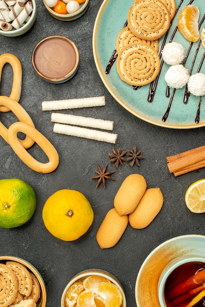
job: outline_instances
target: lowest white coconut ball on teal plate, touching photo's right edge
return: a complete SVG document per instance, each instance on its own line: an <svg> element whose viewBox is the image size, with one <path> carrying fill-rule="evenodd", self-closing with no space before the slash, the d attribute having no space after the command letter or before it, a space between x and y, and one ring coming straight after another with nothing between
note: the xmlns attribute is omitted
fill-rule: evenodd
<svg viewBox="0 0 205 307"><path fill-rule="evenodd" d="M189 77L188 91L195 96L205 95L205 74L197 73Z"/></svg>

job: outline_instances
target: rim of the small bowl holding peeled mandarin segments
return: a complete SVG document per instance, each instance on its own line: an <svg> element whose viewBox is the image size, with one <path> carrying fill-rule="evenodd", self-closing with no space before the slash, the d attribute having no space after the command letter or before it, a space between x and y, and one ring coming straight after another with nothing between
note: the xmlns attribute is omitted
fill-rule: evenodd
<svg viewBox="0 0 205 307"><path fill-rule="evenodd" d="M105 270L102 270L102 269L87 269L87 270L81 271L81 272L77 273L75 276L73 276L63 290L63 293L62 293L62 296L61 296L61 305L60 305L61 307L65 307L64 301L65 301L65 295L66 295L68 288L78 279L83 278L83 277L87 277L87 276L90 276L90 275L98 275L98 276L106 277L110 281L112 281L117 287L119 287L119 289L122 293L122 296L123 296L123 307L126 307L126 304L127 304L126 296L125 296L125 292L124 292L124 289L123 289L121 282L114 275L112 275L111 273L109 273Z"/></svg>

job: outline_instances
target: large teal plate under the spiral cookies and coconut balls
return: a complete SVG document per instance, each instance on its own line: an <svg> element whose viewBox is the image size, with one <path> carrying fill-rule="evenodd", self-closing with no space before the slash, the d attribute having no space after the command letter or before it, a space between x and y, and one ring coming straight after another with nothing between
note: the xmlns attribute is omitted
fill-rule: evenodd
<svg viewBox="0 0 205 307"><path fill-rule="evenodd" d="M196 123L197 109L200 102L200 97L190 95L188 102L184 103L185 86L182 89L177 89L170 107L168 117L165 121L162 120L167 111L173 89L170 88L170 97L166 97L167 84L164 80L164 75L168 68L168 64L163 63L162 70L158 78L157 87L153 102L148 102L150 91L150 84L142 86L138 90L134 90L131 85L124 82L118 75L116 70L116 62L110 69L109 74L105 74L106 66L115 50L115 42L117 35L124 27L127 21L128 9L133 4L133 0L104 0L98 12L94 30L93 30L93 53L98 73L112 97L121 104L128 112L136 117L149 122L151 124L166 127L166 128L198 128L205 126L205 96L202 97L200 106L199 121ZM180 4L180 3L181 4ZM159 52L165 44L170 42L171 36L177 26L179 12L185 5L188 5L190 0L179 1L176 0L177 13L173 19L172 25L168 35L164 34L159 39ZM193 0L192 4L200 9L199 23L203 20L205 15L205 5L202 0ZM179 9L178 9L179 8ZM200 27L200 34L205 27L205 20L203 20ZM179 42L185 48L185 54L188 52L190 42L187 41L177 30L173 41ZM195 74L200 66L205 49L201 41L192 44L189 55L185 62L185 67L191 75ZM192 63L194 56L196 60L193 68ZM201 73L205 73L205 61L201 66Z"/></svg>

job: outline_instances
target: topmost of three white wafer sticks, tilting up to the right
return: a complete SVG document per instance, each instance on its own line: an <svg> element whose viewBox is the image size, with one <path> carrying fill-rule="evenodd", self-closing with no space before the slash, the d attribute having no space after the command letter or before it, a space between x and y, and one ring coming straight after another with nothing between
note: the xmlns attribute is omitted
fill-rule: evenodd
<svg viewBox="0 0 205 307"><path fill-rule="evenodd" d="M63 109L76 109L85 108L90 106L103 106L105 105L105 97L88 97L77 99L64 99L42 102L43 111L63 110Z"/></svg>

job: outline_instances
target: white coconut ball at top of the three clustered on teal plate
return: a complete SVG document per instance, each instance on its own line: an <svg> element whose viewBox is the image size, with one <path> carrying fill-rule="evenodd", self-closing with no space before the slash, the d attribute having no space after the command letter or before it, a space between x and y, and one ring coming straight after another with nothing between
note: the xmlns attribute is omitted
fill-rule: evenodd
<svg viewBox="0 0 205 307"><path fill-rule="evenodd" d="M169 65L180 64L185 57L185 49L176 42L167 43L161 53L164 62Z"/></svg>

